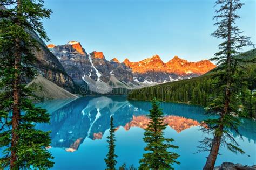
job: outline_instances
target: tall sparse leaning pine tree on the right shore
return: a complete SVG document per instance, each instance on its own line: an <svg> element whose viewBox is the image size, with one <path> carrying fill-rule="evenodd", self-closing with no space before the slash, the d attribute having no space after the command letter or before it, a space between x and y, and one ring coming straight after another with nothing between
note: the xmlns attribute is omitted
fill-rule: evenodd
<svg viewBox="0 0 256 170"><path fill-rule="evenodd" d="M238 132L240 121L234 115L239 115L238 96L242 87L242 69L239 65L243 62L242 59L234 56L240 54L242 47L251 44L250 39L241 36L242 32L235 26L235 20L239 18L235 11L243 4L239 0L217 0L215 5L220 6L220 9L216 10L217 15L214 16L218 29L212 36L224 39L224 42L219 45L219 52L212 58L219 65L215 70L218 82L214 87L220 92L210 103L208 114L217 115L218 118L204 121L206 126L202 130L212 134L213 138L206 137L199 146L203 148L201 151L210 151L204 166L207 170L214 168L220 146L227 146L235 153L244 153L232 136L232 132L240 135Z"/></svg>

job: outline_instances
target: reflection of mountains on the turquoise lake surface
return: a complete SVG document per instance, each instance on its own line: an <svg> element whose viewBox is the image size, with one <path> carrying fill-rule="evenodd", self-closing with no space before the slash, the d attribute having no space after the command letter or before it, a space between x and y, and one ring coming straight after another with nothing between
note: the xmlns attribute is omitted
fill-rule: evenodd
<svg viewBox="0 0 256 170"><path fill-rule="evenodd" d="M128 101L125 96L81 97L76 100L52 100L42 103L42 108L51 113L50 124L40 124L39 129L50 130L51 147L65 148L68 152L78 150L84 139L102 139L110 128L110 117L114 118L116 130L123 126L125 130L132 127L145 129L149 123L146 114L151 109L150 102ZM206 118L204 109L198 106L161 102L165 123L177 133L199 126ZM246 119L244 124L246 125ZM243 136L250 134L241 126ZM255 134L255 133L254 133ZM247 137L250 139L250 137ZM253 138L255 141L255 137Z"/></svg>

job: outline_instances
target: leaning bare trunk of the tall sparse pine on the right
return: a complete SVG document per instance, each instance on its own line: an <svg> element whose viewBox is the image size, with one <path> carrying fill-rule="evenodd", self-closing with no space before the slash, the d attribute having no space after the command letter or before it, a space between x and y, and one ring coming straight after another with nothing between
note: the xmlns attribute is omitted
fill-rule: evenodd
<svg viewBox="0 0 256 170"><path fill-rule="evenodd" d="M214 134L213 138L213 143L211 146L210 154L207 157L206 164L204 166L204 170L212 170L214 168L219 148L220 148L220 143L221 143L221 138L223 136L223 117L225 114L228 114L228 108L230 107L230 86L231 86L231 20L232 20L232 1L230 0L230 7L229 7L229 15L228 15L228 35L227 35L227 77L226 77L226 89L225 89L225 102L224 102L224 110L223 114L220 116L220 125L218 127L218 132Z"/></svg>

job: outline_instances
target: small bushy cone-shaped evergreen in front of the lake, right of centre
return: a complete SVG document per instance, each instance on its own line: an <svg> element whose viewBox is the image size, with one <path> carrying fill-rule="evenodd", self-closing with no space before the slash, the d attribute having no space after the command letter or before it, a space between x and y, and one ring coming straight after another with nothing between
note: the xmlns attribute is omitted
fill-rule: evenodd
<svg viewBox="0 0 256 170"><path fill-rule="evenodd" d="M174 141L173 139L164 138L166 124L164 124L163 112L156 100L152 101L152 109L148 116L150 123L145 129L143 138L147 143L144 150L148 152L144 153L143 158L140 159L139 169L173 169L174 163L179 164L176 160L179 155L168 150L178 148L178 146L170 144Z"/></svg>

